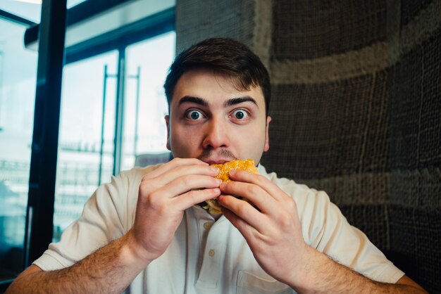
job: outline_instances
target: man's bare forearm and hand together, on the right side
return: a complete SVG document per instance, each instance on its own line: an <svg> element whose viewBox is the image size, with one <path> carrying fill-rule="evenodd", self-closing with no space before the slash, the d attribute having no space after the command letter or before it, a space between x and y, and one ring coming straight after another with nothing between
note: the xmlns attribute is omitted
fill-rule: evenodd
<svg viewBox="0 0 441 294"><path fill-rule="evenodd" d="M304 242L293 198L258 174L231 171L230 179L221 184L218 198L223 214L244 236L262 269L298 293L426 293L407 276L396 284L380 283L330 260Z"/></svg>

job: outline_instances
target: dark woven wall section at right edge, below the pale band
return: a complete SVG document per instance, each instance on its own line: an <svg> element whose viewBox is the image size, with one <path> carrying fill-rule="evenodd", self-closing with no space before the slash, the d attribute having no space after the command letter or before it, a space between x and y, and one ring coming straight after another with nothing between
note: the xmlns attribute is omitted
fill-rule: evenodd
<svg viewBox="0 0 441 294"><path fill-rule="evenodd" d="M441 30L390 70L391 169L441 166Z"/></svg>

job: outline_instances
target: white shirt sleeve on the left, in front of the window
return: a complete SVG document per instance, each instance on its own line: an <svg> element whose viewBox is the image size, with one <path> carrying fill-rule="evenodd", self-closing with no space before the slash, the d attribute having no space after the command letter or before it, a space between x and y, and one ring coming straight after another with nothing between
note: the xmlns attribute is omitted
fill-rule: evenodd
<svg viewBox="0 0 441 294"><path fill-rule="evenodd" d="M87 200L80 219L70 224L58 243L33 262L44 271L70 267L128 231L130 196L128 172L112 177ZM138 185L139 186L139 185Z"/></svg>

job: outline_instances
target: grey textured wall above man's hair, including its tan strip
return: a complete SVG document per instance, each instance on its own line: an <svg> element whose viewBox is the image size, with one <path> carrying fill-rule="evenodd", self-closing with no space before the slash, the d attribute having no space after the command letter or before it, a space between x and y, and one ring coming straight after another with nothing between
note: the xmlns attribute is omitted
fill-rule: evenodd
<svg viewBox="0 0 441 294"><path fill-rule="evenodd" d="M271 46L271 1L176 1L176 51L208 37L242 41L268 64Z"/></svg>

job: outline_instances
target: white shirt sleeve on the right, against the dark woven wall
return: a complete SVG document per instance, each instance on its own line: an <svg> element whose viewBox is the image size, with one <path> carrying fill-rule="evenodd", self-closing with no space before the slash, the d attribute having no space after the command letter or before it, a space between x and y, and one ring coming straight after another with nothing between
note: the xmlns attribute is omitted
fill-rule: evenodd
<svg viewBox="0 0 441 294"><path fill-rule="evenodd" d="M312 248L374 281L396 283L404 276L362 231L347 222L325 192L294 181L280 183L297 202L302 234Z"/></svg>

